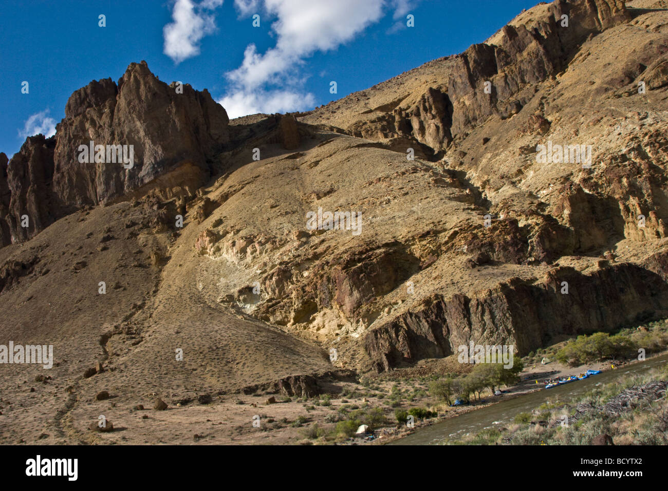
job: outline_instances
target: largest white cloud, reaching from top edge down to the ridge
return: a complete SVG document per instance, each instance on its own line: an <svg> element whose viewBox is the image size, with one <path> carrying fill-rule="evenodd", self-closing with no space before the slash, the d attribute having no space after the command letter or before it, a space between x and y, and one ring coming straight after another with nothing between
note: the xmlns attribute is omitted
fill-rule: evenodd
<svg viewBox="0 0 668 491"><path fill-rule="evenodd" d="M275 18L276 45L265 53L248 45L240 67L226 73L228 94L218 100L230 118L257 112L313 108L315 97L303 90L299 66L316 51L351 41L383 16L386 0L234 0L242 15Z"/></svg>

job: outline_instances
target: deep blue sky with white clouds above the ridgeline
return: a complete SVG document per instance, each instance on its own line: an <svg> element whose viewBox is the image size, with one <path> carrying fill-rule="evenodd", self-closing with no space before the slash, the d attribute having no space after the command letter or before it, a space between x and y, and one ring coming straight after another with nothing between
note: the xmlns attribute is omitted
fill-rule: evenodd
<svg viewBox="0 0 668 491"><path fill-rule="evenodd" d="M0 152L53 132L71 93L145 59L230 117L309 110L484 41L537 0L32 0L0 3ZM99 15L106 16L100 27ZM260 27L253 27L253 15ZM414 16L414 27L406 16ZM329 93L330 81L337 94ZM22 94L27 81L28 94Z"/></svg>

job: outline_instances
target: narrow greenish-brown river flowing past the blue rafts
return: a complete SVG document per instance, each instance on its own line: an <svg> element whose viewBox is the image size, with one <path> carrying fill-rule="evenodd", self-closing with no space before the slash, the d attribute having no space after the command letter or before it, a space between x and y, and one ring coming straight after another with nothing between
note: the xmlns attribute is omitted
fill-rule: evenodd
<svg viewBox="0 0 668 491"><path fill-rule="evenodd" d="M390 442L388 445L431 445L442 442L445 438L456 438L464 436L467 433L477 433L484 428L494 426L508 426L518 413L531 412L536 407L548 399L558 399L561 402L568 402L572 397L591 391L597 385L613 382L617 379L624 379L637 373L643 373L653 367L665 365L668 362L668 355L661 355L647 359L645 361L634 363L619 369L611 369L592 375L591 377L578 380L564 385L559 385L552 389L542 389L525 395L520 395L514 399L498 402L496 404L482 407L440 423L418 428L415 432L400 440ZM587 367L583 366L582 371Z"/></svg>

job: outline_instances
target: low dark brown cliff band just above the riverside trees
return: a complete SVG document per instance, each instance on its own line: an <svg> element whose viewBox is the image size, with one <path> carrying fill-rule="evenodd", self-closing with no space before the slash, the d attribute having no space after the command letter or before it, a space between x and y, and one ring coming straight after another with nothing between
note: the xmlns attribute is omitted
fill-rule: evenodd
<svg viewBox="0 0 668 491"><path fill-rule="evenodd" d="M511 278L471 296L435 295L369 332L365 350L377 371L457 354L472 340L524 355L559 336L610 331L665 311L660 275L628 263L600 266L585 274L559 267L540 281Z"/></svg>

